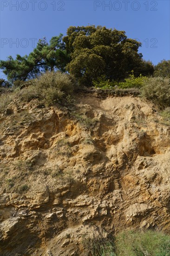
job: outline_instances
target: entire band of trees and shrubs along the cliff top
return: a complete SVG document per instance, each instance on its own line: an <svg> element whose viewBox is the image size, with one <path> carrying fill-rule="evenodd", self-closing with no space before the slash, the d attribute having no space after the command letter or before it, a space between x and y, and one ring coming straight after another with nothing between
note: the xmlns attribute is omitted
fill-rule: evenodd
<svg viewBox="0 0 170 256"><path fill-rule="evenodd" d="M138 53L140 46L124 31L93 25L69 27L65 37L59 34L49 43L43 38L28 56L17 54L16 59L0 61L8 79L0 79L0 109L15 96L52 106L86 86L136 88L163 110L170 106L170 61L154 67Z"/></svg>

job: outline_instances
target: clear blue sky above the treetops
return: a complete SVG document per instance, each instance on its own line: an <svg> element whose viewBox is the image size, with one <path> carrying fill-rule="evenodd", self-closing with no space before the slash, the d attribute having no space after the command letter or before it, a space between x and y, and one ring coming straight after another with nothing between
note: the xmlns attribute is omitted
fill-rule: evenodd
<svg viewBox="0 0 170 256"><path fill-rule="evenodd" d="M40 38L88 24L124 30L155 65L170 59L169 0L0 0L0 59L29 54Z"/></svg>

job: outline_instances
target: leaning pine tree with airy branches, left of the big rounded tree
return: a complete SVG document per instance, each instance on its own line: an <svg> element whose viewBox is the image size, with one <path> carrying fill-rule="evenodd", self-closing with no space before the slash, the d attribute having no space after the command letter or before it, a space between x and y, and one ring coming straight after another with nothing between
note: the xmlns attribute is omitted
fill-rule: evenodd
<svg viewBox="0 0 170 256"><path fill-rule="evenodd" d="M7 61L0 61L0 68L9 81L26 81L47 70L53 71L56 68L63 71L69 60L60 34L52 37L49 44L46 38L40 39L29 55L21 57L17 54L15 60L9 56Z"/></svg>

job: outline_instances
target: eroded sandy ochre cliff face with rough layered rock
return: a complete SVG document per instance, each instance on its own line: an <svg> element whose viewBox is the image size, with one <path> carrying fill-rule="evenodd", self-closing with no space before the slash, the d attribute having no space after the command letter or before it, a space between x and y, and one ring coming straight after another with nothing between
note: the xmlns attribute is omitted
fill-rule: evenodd
<svg viewBox="0 0 170 256"><path fill-rule="evenodd" d="M82 239L170 230L170 128L139 97L15 100L0 119L0 255L84 255Z"/></svg>

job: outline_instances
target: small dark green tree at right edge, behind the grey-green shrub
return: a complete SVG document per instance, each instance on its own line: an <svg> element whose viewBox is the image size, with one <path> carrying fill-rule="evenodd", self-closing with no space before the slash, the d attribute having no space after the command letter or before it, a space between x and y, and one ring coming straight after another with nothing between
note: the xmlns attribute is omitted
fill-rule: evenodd
<svg viewBox="0 0 170 256"><path fill-rule="evenodd" d="M170 78L170 60L162 60L155 66L154 76L162 76Z"/></svg>

